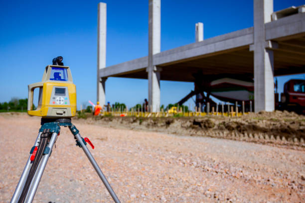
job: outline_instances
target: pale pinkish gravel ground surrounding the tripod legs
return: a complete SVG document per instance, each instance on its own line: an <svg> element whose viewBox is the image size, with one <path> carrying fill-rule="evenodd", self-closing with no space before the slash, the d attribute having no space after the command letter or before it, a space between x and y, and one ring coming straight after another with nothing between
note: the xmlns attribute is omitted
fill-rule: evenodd
<svg viewBox="0 0 305 203"><path fill-rule="evenodd" d="M122 203L305 202L305 151L73 121ZM39 117L0 114L0 202L10 201ZM62 127L34 202L112 202Z"/></svg>

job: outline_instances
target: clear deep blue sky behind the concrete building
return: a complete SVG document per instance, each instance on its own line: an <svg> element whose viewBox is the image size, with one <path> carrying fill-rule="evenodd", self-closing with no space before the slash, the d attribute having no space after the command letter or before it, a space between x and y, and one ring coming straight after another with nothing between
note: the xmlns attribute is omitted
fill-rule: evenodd
<svg viewBox="0 0 305 203"><path fill-rule="evenodd" d="M41 81L44 67L56 56L63 56L72 70L78 106L96 101L98 2L0 1L0 102L27 98L27 85ZM147 56L148 0L103 2L107 3L106 65ZM274 10L304 3L274 0ZM253 1L161 0L161 51L193 43L196 22L204 23L205 39L251 27ZM290 78L279 78L280 91ZM161 81L160 85L164 105L178 102L193 89L192 83ZM147 80L109 78L106 82L111 103L132 106L147 97Z"/></svg>

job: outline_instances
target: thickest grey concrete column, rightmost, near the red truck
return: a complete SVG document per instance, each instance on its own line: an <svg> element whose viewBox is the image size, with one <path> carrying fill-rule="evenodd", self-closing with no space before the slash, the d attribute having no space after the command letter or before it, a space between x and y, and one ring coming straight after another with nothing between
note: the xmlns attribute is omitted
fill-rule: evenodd
<svg viewBox="0 0 305 203"><path fill-rule="evenodd" d="M254 107L255 112L273 111L273 51L267 49L265 23L271 21L273 0L254 0ZM267 48L266 48L267 47Z"/></svg>

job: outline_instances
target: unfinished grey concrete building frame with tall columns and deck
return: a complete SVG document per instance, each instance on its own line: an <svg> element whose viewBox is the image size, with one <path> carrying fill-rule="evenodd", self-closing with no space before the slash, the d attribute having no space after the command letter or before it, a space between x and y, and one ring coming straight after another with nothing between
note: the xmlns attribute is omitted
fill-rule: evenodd
<svg viewBox="0 0 305 203"><path fill-rule="evenodd" d="M160 0L149 0L149 55L106 67L106 3L98 4L97 100L105 103L108 77L148 79L149 105L160 106L160 80L195 82L205 76L254 78L255 111L275 109L274 77L305 73L305 5L273 10L273 0L253 0L253 27L160 52Z"/></svg>

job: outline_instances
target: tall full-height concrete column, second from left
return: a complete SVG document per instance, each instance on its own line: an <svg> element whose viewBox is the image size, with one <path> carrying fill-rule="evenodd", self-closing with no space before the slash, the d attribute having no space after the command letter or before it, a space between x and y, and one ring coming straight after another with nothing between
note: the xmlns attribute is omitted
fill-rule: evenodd
<svg viewBox="0 0 305 203"><path fill-rule="evenodd" d="M160 106L160 70L153 65L153 55L160 52L160 0L149 0L149 105L152 111L159 111Z"/></svg>

